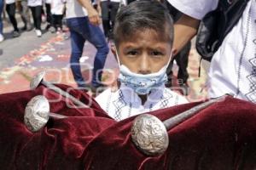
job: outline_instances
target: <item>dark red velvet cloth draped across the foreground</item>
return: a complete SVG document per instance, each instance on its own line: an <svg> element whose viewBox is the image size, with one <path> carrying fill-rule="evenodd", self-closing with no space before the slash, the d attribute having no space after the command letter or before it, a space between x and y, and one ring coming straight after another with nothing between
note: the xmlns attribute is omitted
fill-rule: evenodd
<svg viewBox="0 0 256 170"><path fill-rule="evenodd" d="M59 85L64 90L69 88ZM162 156L144 156L131 142L134 117L115 122L93 100L90 109L50 103L51 112L70 116L51 120L38 133L23 123L27 102L36 95L58 97L40 87L0 95L0 169L255 169L256 105L225 99L168 131L170 144ZM45 92L46 91L46 92ZM89 96L71 92L84 103ZM165 120L198 103L151 114Z"/></svg>

